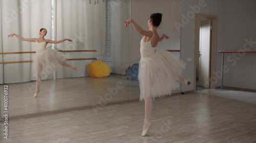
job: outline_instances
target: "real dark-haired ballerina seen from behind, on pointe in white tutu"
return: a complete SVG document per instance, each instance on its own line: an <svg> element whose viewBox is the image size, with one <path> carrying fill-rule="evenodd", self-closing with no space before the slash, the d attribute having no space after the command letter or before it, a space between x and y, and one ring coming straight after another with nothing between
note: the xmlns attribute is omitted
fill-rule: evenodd
<svg viewBox="0 0 256 143"><path fill-rule="evenodd" d="M161 37L157 33L157 27L162 20L161 13L154 13L148 19L149 30L143 30L133 19L124 21L125 27L132 23L135 30L144 37L140 42L141 59L139 63L139 83L140 101L145 100L145 120L142 136L145 136L151 127L150 115L152 109L152 99L162 95L170 95L172 89L176 88L177 81L186 85L190 84L181 73L185 69L185 63L180 61L174 54L155 48L158 42L169 37L163 34Z"/></svg>

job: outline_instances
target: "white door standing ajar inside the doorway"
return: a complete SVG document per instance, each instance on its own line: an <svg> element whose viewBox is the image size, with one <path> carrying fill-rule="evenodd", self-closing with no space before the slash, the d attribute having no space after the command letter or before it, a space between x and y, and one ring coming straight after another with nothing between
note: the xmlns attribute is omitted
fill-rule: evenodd
<svg viewBox="0 0 256 143"><path fill-rule="evenodd" d="M199 85L210 88L211 20L201 21L199 41Z"/></svg>

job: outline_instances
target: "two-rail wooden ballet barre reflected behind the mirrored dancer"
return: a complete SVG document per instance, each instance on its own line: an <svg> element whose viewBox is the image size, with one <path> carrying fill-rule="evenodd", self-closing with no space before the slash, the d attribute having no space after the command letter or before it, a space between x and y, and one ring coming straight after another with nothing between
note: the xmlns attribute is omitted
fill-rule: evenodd
<svg viewBox="0 0 256 143"><path fill-rule="evenodd" d="M98 53L99 50L58 50L58 52L97 52L96 58L82 58L82 59L67 59L67 61L72 60L99 60ZM0 54L17 54L17 53L35 53L35 51L25 51L25 52L0 52ZM32 63L33 61L15 61L15 62L0 62L0 64L13 64L13 63Z"/></svg>

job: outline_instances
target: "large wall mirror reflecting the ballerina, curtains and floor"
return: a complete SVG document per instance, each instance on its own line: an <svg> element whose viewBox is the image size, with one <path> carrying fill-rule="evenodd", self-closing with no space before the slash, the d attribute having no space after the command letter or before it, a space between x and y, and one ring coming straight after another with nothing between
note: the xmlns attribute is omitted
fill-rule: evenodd
<svg viewBox="0 0 256 143"><path fill-rule="evenodd" d="M139 100L139 81L126 75L138 72L138 66L133 65L140 60L142 35L132 25L124 27L123 21L129 18L147 30L150 15L162 13L158 33L170 39L160 42L157 48L180 50L180 30L174 24L180 21L180 0L37 0L28 3L11 0L1 1L0 7L3 21L0 31L3 43L0 49L1 112L4 111L4 86L8 85L9 117L13 118L82 108L94 108L97 113L108 104ZM16 33L24 38L38 38L40 28L47 29L46 39L73 41L48 44L47 48L59 50L68 64L80 70L60 67L45 75L40 92L34 98L36 81L32 63L10 62L32 61L35 53L8 53L35 51L34 43L7 35ZM180 56L179 51L173 53ZM96 61L111 67L109 77L89 76L89 64ZM179 92L177 84L173 93Z"/></svg>

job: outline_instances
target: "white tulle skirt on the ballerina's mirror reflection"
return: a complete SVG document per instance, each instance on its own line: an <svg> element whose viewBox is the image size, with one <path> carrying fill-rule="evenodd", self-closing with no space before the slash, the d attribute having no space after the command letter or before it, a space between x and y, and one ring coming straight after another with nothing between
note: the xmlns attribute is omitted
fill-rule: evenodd
<svg viewBox="0 0 256 143"><path fill-rule="evenodd" d="M61 52L46 48L45 51L36 53L33 59L33 76L41 76L42 79L48 77L57 68L63 65L66 58Z"/></svg>

